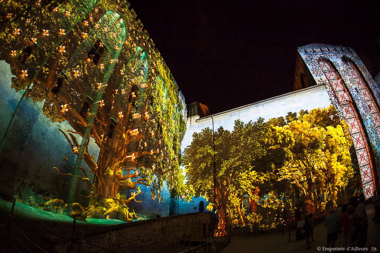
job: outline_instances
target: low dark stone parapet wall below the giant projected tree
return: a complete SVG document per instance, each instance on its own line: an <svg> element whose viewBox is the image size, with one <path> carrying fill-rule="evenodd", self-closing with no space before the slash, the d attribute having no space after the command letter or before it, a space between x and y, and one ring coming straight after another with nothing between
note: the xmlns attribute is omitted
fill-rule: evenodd
<svg viewBox="0 0 380 253"><path fill-rule="evenodd" d="M94 246L102 245L118 252L176 252L180 251L181 240L186 237L201 239L204 232L210 235L211 231L212 213L187 213L116 225L107 233L85 238L87 243L83 248L108 252Z"/></svg>

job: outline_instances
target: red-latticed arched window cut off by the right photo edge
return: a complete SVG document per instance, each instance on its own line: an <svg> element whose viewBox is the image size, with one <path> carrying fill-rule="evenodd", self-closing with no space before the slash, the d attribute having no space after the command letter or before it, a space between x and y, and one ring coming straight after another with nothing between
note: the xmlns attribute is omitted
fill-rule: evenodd
<svg viewBox="0 0 380 253"><path fill-rule="evenodd" d="M368 85L365 83L363 77L359 73L356 66L351 62L350 59L343 57L342 61L346 64L346 68L350 71L351 78L355 85L355 88L361 94L364 101L368 105L369 113L371 114L371 118L376 127L378 135L380 135L380 113L378 110L378 106L376 105L375 100L373 99L373 95L371 91L368 89Z"/></svg>

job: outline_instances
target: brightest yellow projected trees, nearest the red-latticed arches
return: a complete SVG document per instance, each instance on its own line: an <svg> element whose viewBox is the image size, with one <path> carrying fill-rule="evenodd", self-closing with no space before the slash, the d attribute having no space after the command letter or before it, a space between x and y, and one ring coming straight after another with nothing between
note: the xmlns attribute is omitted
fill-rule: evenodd
<svg viewBox="0 0 380 253"><path fill-rule="evenodd" d="M292 159L279 170L280 180L291 180L299 187L311 212L321 193L324 201L329 194L336 206L336 193L343 188L345 176L353 177L347 127L343 131L335 110L329 107L314 109L284 128L293 133L295 144L289 149Z"/></svg>

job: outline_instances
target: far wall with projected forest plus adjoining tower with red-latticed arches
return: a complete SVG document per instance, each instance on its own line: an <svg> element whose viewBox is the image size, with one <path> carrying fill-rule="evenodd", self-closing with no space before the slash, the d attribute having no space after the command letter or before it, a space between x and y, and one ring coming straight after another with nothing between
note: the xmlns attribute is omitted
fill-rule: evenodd
<svg viewBox="0 0 380 253"><path fill-rule="evenodd" d="M373 196L374 81L350 48L315 44L298 53L298 91L213 115L203 104L188 106L183 166L189 191L203 198L180 203L180 211L216 209L222 230L229 222L274 227L295 207L320 213L360 191Z"/></svg>

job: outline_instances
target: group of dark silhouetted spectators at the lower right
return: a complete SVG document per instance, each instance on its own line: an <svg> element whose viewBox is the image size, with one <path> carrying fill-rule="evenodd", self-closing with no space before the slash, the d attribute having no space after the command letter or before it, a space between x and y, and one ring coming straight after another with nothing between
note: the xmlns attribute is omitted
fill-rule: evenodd
<svg viewBox="0 0 380 253"><path fill-rule="evenodd" d="M338 232L343 232L343 246L356 242L357 247L364 247L367 242L368 217L365 206L365 196L359 194L358 199L352 198L350 204L340 204L336 213L334 208L324 220L327 227L327 247L334 247L338 239ZM372 203L375 207L375 217L378 222L380 217L380 198L374 191ZM343 231L342 231L343 230Z"/></svg>

